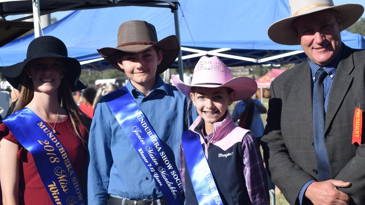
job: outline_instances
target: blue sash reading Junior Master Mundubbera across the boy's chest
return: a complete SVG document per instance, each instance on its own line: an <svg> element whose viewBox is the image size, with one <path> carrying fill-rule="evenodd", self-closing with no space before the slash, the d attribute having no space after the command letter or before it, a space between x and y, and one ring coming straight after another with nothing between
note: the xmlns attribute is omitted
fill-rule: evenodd
<svg viewBox="0 0 365 205"><path fill-rule="evenodd" d="M181 205L180 173L126 86L104 96L116 120L160 187L169 205ZM163 115L163 113L161 113Z"/></svg>

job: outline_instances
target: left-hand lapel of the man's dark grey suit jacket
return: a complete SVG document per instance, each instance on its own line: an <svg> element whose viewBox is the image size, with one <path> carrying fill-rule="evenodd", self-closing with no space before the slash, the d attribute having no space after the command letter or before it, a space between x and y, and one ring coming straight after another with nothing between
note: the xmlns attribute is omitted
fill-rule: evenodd
<svg viewBox="0 0 365 205"><path fill-rule="evenodd" d="M303 71L298 75L298 82L301 83L298 84L295 92L297 105L299 105L297 109L303 115L308 127L313 131L312 75L308 62L304 63L300 70Z"/></svg>

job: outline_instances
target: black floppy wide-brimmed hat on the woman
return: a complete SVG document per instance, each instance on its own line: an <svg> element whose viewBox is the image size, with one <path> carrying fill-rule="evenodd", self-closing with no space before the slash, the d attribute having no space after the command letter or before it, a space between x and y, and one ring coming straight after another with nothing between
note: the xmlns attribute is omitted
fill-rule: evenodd
<svg viewBox="0 0 365 205"><path fill-rule="evenodd" d="M15 89L18 89L24 67L28 62L37 58L60 58L65 67L66 79L69 81L72 92L87 88L80 80L81 65L74 58L67 55L65 44L53 36L40 36L32 40L28 46L27 58L23 62L3 67L0 73Z"/></svg>

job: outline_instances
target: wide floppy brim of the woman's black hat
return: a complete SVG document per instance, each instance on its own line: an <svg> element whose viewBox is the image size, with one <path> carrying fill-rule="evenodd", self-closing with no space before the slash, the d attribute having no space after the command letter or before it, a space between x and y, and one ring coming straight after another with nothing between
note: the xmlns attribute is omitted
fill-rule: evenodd
<svg viewBox="0 0 365 205"><path fill-rule="evenodd" d="M52 57L61 58L62 61L64 62L67 79L70 82L72 92L87 88L80 80L78 80L81 74L80 62L78 62L77 59L71 57L65 57L63 55L58 55L54 53L37 53L32 57L25 59L23 62L1 68L0 73L4 75L5 79L9 82L11 86L13 86L15 89L18 89L21 80L20 74L22 74L24 66L26 66L28 62L38 58L52 58Z"/></svg>

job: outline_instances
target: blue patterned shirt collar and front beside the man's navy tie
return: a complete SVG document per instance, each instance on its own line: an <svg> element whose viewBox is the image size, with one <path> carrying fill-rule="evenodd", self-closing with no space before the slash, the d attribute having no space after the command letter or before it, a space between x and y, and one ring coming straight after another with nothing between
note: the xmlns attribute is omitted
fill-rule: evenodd
<svg viewBox="0 0 365 205"><path fill-rule="evenodd" d="M330 96L330 90L331 90L333 78L335 77L335 74L336 74L337 65L340 62L342 47L341 47L341 50L338 52L336 58L333 59L332 62L330 62L328 65L326 65L324 67L320 67L319 65L311 62L310 59L308 58L308 63L309 63L309 66L311 67L311 71L312 71L312 88L313 88L314 83L315 83L316 72L321 68L324 71L327 72L327 76L323 80L323 86L324 86L324 112L326 112L326 113L327 113L328 96ZM315 99L313 99L313 100L315 100Z"/></svg>

